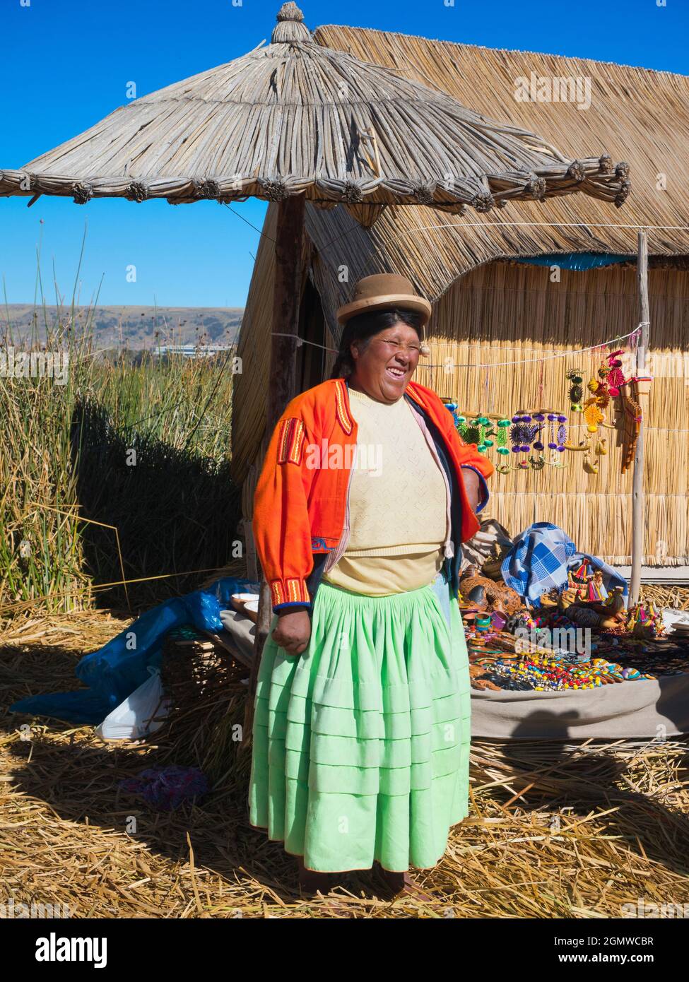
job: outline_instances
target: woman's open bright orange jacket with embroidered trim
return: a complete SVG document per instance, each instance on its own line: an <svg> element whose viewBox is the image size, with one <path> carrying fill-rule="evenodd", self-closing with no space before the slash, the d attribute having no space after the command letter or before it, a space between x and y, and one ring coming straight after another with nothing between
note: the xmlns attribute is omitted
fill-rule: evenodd
<svg viewBox="0 0 689 982"><path fill-rule="evenodd" d="M479 519L467 499L463 466L485 478L493 465L476 444L465 444L452 415L431 389L410 382L404 398L429 430L438 465L450 486L454 562L448 577L457 585L459 545L478 531ZM329 379L303 392L282 413L268 445L254 499L258 560L270 584L273 611L309 606L321 574L345 550L349 538L349 484L357 444L357 423L344 379Z"/></svg>

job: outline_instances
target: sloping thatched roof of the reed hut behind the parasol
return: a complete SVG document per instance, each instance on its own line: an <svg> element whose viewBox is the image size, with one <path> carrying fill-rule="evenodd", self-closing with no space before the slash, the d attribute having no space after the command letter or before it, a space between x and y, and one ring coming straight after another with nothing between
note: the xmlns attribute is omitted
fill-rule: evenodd
<svg viewBox="0 0 689 982"><path fill-rule="evenodd" d="M649 229L652 255L689 254L686 76L356 27L318 27L315 36L321 44L436 85L488 116L542 133L565 153L587 145L604 147L612 159L629 162L634 179L622 212L583 194L524 202L518 212L472 212L464 218L437 215L423 207L394 208L387 209L370 232L363 232L342 209L308 209L309 235L328 267L327 282L318 283L318 288L325 293L333 330L333 304L348 299L358 277L380 270L404 272L435 300L457 277L493 259L584 251L634 255L636 226ZM537 79L589 79L591 106L517 101L517 80L531 80L532 72ZM584 227L569 227L576 223ZM440 225L443 228L429 228ZM342 263L349 268L349 286L330 275ZM331 291L336 296L328 302Z"/></svg>

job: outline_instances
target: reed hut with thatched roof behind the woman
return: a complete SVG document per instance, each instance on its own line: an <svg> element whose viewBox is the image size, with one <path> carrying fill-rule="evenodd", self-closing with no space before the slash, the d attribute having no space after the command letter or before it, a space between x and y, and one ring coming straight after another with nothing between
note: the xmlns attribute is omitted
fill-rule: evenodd
<svg viewBox="0 0 689 982"><path fill-rule="evenodd" d="M540 404L576 419L569 413L565 372L580 369L586 384L603 351L566 353L627 335L638 325L637 236L647 229L647 368L655 382L644 423L643 563L647 573L661 566L687 577L689 78L362 28L319 27L315 36L320 44L445 91L487 116L543 134L564 153L604 147L610 159L629 162L634 189L622 212L611 213L609 204L581 194L465 216L408 205L384 208L369 229L343 208L308 205L300 389L329 375L328 349L336 348L339 335L334 311L349 299L354 282L399 271L433 303L431 358L420 365L419 381L460 409L511 414ZM249 522L270 387L275 218L271 204L242 325L243 372L234 393L233 468L243 484L250 557ZM628 356L623 363L633 370ZM573 442L585 428L579 423L570 429ZM490 516L513 534L536 520L555 522L579 549L618 567L630 564L632 473L623 471L621 434L606 435L608 453L598 459L598 473L583 469L582 455L566 453L563 468L496 475Z"/></svg>

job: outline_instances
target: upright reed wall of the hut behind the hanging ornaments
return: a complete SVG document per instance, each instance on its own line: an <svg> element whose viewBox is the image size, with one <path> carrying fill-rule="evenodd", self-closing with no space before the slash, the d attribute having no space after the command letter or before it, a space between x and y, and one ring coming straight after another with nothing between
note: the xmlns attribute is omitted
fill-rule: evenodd
<svg viewBox="0 0 689 982"><path fill-rule="evenodd" d="M258 260L267 270L267 257ZM317 256L314 262L317 269ZM567 353L627 334L636 326L636 268L561 270L559 282L551 282L550 276L547 267L494 262L455 281L433 306L431 357L421 359L417 378L470 411L511 415L517 409L536 408L537 403L562 409L573 423L572 442L578 443L585 425L569 412L565 372L580 368L587 381L603 352ZM689 563L689 273L652 269L649 283L648 366L656 381L646 420L644 563L684 565ZM266 280L255 277L255 284L269 296ZM244 482L247 517L252 515L269 384L268 312L263 308L260 318L252 321L251 352L249 332L242 332L245 366L235 395L233 467L235 478ZM503 364L529 358L537 360ZM631 372L629 350L623 363ZM606 420L618 415L608 409ZM545 466L541 471L495 474L486 515L512 534L534 521L552 521L579 549L613 564L629 564L632 472L621 470L621 431L602 435L607 436L608 453L598 459L598 474L587 474L583 455L570 452L562 455L563 469Z"/></svg>

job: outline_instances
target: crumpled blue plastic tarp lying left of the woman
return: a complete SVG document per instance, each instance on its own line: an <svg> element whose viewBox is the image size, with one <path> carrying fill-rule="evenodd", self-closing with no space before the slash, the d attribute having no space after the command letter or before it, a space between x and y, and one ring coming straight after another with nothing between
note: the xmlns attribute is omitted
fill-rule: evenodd
<svg viewBox="0 0 689 982"><path fill-rule="evenodd" d="M256 592L258 583L225 576L202 590L166 600L146 611L98 651L84 656L75 674L87 688L31 695L15 702L10 710L97 726L144 684L149 678L149 666L160 666L169 631L185 624L199 630L223 630L220 611L230 606L231 595Z"/></svg>

